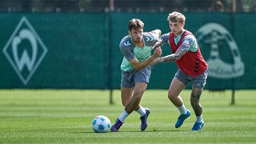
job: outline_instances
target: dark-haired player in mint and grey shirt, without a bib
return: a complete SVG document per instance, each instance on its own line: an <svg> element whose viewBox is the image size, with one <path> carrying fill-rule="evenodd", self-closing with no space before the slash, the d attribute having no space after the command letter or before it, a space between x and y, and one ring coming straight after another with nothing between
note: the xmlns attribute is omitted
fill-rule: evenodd
<svg viewBox="0 0 256 144"><path fill-rule="evenodd" d="M121 70L121 97L122 105L125 106L122 114L117 118L111 131L118 131L126 117L134 110L140 114L141 130L146 130L147 117L150 110L140 105L152 70L151 62L162 55L161 47L154 50L152 46L161 36L161 30L143 32L144 23L133 18L128 23L128 34L120 42L120 50L123 54Z"/></svg>

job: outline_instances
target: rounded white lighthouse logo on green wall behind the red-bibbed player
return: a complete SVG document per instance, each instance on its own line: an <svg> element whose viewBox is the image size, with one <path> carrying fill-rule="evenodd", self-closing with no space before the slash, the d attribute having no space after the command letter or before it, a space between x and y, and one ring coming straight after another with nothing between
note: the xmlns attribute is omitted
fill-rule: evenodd
<svg viewBox="0 0 256 144"><path fill-rule="evenodd" d="M206 59L210 70L210 77L237 78L244 74L245 66L242 62L238 46L225 27L218 23L207 23L200 27L195 35L202 49L210 48L209 58ZM226 62L225 58L229 62Z"/></svg>

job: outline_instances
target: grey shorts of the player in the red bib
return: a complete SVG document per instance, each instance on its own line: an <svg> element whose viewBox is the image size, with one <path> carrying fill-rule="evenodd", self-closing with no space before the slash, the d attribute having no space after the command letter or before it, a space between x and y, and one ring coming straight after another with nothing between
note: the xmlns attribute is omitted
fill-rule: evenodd
<svg viewBox="0 0 256 144"><path fill-rule="evenodd" d="M190 82L192 82L192 88L203 89L206 86L206 78L208 73L209 70L207 69L197 77L192 77L182 72L182 70L178 70L174 77L178 78L178 80L182 81L185 85L188 85Z"/></svg>

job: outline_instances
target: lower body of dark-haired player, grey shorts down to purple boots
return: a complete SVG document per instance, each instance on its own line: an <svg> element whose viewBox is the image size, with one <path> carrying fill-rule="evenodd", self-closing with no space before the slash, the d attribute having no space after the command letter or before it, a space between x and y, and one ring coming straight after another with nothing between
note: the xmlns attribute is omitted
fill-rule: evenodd
<svg viewBox="0 0 256 144"><path fill-rule="evenodd" d="M141 116L141 130L145 130L147 126L146 118L150 114L150 110L144 109L139 105L142 95L144 94L147 84L150 80L151 67L147 66L145 69L140 71L130 71L122 72L122 104L125 105L125 110L123 110L121 116L116 120L115 124L111 127L112 131L118 131L125 118L136 110ZM125 89L123 87L132 88L134 86L133 93L131 90ZM127 94L126 94L127 92ZM129 95L132 94L130 97ZM129 98L130 99L129 99Z"/></svg>

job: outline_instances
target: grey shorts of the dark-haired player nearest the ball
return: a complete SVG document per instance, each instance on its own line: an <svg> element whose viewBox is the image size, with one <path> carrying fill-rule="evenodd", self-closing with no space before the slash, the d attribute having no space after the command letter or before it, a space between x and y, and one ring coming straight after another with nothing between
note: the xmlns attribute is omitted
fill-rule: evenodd
<svg viewBox="0 0 256 144"><path fill-rule="evenodd" d="M149 83L152 68L152 66L146 66L142 70L122 71L121 86L131 88L134 87L135 82Z"/></svg>

